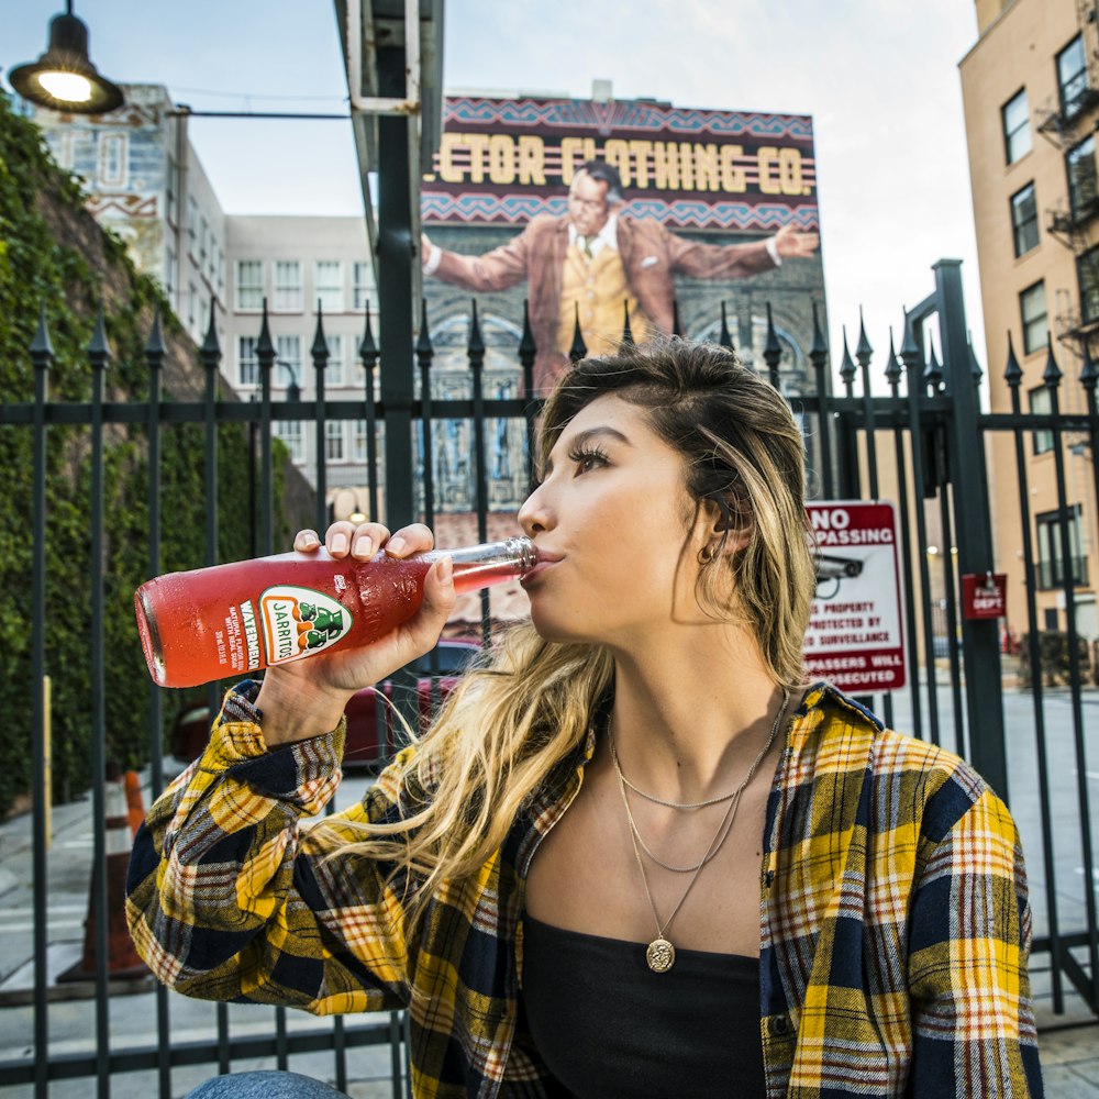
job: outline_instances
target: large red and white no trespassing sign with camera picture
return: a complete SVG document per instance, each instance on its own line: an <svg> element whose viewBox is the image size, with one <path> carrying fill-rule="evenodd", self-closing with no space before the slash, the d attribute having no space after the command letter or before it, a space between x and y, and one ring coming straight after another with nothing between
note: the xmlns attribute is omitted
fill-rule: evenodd
<svg viewBox="0 0 1099 1099"><path fill-rule="evenodd" d="M904 686L897 509L884 501L808 506L817 535L817 593L806 671L848 693Z"/></svg>

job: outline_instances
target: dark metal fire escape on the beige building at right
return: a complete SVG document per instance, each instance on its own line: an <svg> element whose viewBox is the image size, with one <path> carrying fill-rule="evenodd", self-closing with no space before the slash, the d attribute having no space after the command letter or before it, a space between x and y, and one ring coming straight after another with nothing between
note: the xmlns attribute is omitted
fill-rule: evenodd
<svg viewBox="0 0 1099 1099"><path fill-rule="evenodd" d="M1065 157L1067 200L1047 211L1046 227L1076 258L1077 293L1058 291L1055 317L1057 338L1069 343L1083 356L1085 345L1092 353L1099 340L1099 260L1081 264L1081 258L1099 243L1099 178L1094 148L1081 148L1099 130L1095 108L1099 106L1099 15L1096 0L1077 0L1077 21L1083 45L1083 66L1063 71L1058 58L1057 99L1037 111L1037 131ZM1066 47L1066 52L1067 52ZM1074 151L1079 151L1074 158ZM1099 253L1096 253L1099 257ZM1085 309L1085 302L1095 302Z"/></svg>

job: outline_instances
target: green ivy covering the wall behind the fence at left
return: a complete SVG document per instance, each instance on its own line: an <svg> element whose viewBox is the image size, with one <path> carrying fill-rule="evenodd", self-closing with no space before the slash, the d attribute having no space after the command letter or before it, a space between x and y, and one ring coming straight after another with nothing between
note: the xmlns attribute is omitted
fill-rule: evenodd
<svg viewBox="0 0 1099 1099"><path fill-rule="evenodd" d="M57 168L37 127L0 93L0 400L33 399L29 348L44 308L56 362L48 371L52 401L88 401L92 371L86 347L104 279L124 287L106 318L112 358L104 386L110 400L145 400L144 345L154 311L166 335L180 338L158 285L138 273L124 245L102 234L101 256L60 243L51 218L87 218L77 179ZM74 221L74 223L76 223ZM102 233L101 230L97 230ZM97 267L97 265L102 265ZM170 400L171 395L165 393ZM162 560L156 571L193 568L206 560L203 429L166 424L162 435ZM286 448L277 440L275 499L281 499ZM248 556L251 532L240 521L247 500L247 428L221 424L219 446L219 555ZM54 796L65 800L87 788L91 758L90 432L52 425L46 459L46 670L52 681ZM31 468L32 431L0 426L0 817L27 793L32 775L31 682ZM149 575L148 464L144 428L110 425L103 454L103 604L106 752L123 767L149 756L149 678L134 623L133 592ZM278 508L278 504L276 504ZM277 536L288 523L276 514ZM165 722L177 710L169 698ZM157 730L154 735L163 735Z"/></svg>

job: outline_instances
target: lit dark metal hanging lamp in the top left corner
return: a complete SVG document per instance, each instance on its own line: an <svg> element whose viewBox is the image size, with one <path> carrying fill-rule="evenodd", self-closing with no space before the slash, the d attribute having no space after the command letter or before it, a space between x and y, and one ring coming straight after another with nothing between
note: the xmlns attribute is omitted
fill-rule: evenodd
<svg viewBox="0 0 1099 1099"><path fill-rule="evenodd" d="M88 27L73 14L73 0L49 22L49 48L33 65L13 68L8 79L23 99L53 111L102 114L123 101L122 89L101 77L88 57Z"/></svg>

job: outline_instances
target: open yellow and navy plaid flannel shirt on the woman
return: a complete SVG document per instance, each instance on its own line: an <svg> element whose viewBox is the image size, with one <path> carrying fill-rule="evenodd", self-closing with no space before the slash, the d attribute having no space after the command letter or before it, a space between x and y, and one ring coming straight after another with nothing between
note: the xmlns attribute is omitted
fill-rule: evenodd
<svg viewBox="0 0 1099 1099"><path fill-rule="evenodd" d="M408 1006L418 1097L544 1096L517 1034L523 889L596 733L479 873L440 890L410 944L391 867L324 857L356 837L352 822L397 819L396 767L324 829L299 826L340 781L343 730L267 752L254 690L227 696L204 755L137 836L127 912L149 967L207 999ZM817 685L790 723L764 840L768 1099L1042 1094L1019 837L972 769Z"/></svg>

